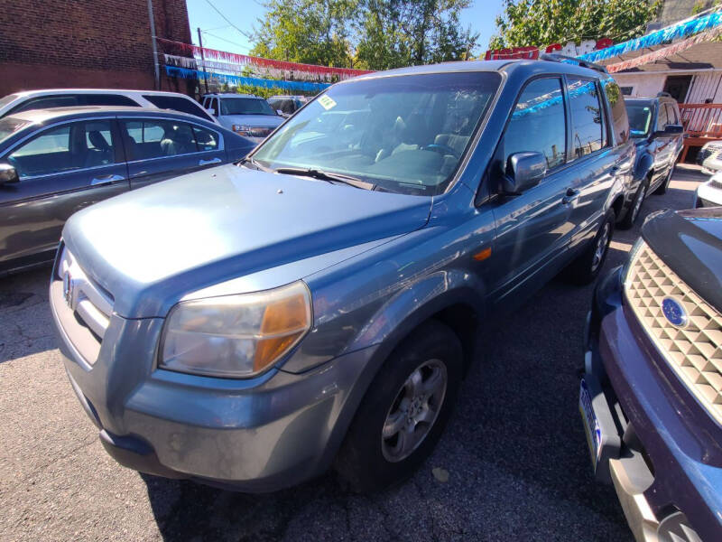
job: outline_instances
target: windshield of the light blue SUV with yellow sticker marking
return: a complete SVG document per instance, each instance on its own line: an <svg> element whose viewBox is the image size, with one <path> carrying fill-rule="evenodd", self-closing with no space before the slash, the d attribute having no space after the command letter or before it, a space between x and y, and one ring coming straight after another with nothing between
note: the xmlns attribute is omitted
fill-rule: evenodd
<svg viewBox="0 0 722 542"><path fill-rule="evenodd" d="M253 157L273 169L343 173L380 190L439 194L500 79L484 71L340 83L301 109Z"/></svg>

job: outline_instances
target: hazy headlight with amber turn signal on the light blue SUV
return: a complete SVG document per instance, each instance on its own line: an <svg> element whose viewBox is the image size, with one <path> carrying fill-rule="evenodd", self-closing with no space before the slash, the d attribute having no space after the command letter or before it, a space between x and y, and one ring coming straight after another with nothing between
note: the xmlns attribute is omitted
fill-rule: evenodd
<svg viewBox="0 0 722 542"><path fill-rule="evenodd" d="M255 294L180 302L163 328L159 367L210 377L253 377L310 330L301 281Z"/></svg>

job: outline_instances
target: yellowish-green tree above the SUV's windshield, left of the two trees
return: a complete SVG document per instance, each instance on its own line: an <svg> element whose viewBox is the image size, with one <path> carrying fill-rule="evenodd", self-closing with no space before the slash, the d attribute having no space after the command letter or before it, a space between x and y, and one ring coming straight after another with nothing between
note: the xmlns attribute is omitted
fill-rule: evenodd
<svg viewBox="0 0 722 542"><path fill-rule="evenodd" d="M356 0L269 0L251 54L279 61L347 67Z"/></svg>

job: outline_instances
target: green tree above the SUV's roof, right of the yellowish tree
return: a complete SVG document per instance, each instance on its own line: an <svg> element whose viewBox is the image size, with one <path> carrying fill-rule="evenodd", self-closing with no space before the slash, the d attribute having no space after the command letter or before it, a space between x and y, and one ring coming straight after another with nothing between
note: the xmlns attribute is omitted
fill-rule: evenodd
<svg viewBox="0 0 722 542"><path fill-rule="evenodd" d="M366 0L356 18L356 61L370 70L458 61L477 45L462 29L471 0Z"/></svg>

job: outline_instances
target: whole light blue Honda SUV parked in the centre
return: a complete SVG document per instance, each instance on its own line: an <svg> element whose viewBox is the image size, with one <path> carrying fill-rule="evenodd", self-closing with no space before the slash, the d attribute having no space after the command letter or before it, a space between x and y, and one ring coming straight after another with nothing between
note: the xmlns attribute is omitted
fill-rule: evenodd
<svg viewBox="0 0 722 542"><path fill-rule="evenodd" d="M332 464L359 491L409 476L479 327L604 263L634 145L595 68L350 79L241 163L75 214L51 308L107 452L241 491Z"/></svg>

